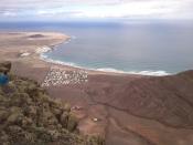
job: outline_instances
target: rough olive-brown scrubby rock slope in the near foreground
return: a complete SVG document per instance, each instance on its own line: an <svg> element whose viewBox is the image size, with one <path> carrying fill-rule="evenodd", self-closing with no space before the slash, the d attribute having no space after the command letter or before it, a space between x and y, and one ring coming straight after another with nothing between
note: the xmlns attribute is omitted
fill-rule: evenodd
<svg viewBox="0 0 193 145"><path fill-rule="evenodd" d="M3 145L104 145L78 134L71 107L49 97L34 81L10 76L0 86L0 143Z"/></svg>

